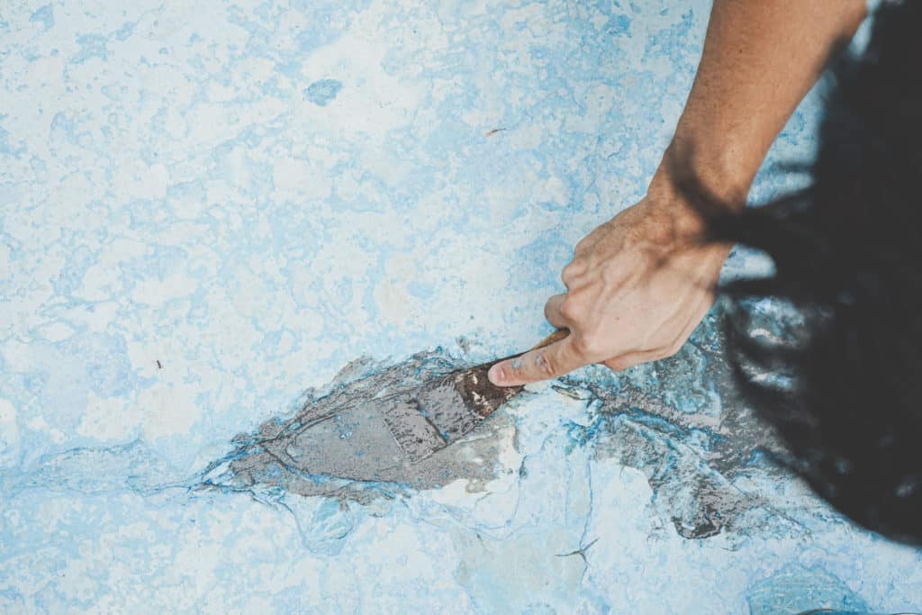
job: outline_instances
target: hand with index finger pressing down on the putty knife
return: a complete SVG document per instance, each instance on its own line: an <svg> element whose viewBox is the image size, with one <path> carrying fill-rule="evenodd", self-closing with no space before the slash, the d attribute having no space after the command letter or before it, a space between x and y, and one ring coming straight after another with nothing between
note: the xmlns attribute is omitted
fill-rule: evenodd
<svg viewBox="0 0 922 615"><path fill-rule="evenodd" d="M726 244L700 242L703 222L671 187L651 186L644 200L592 231L563 268L567 292L544 308L570 336L502 361L500 386L556 378L603 363L624 370L679 351L714 302Z"/></svg>

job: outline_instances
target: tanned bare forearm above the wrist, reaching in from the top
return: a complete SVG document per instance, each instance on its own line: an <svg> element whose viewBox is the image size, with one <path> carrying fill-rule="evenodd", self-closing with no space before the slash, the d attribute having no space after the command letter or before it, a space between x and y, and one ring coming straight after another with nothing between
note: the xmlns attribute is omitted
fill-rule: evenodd
<svg viewBox="0 0 922 615"><path fill-rule="evenodd" d="M654 183L676 170L742 207L756 171L865 0L715 0L698 73Z"/></svg>

